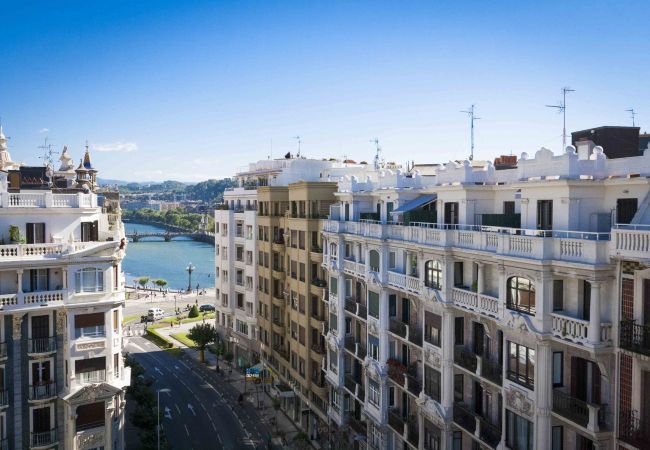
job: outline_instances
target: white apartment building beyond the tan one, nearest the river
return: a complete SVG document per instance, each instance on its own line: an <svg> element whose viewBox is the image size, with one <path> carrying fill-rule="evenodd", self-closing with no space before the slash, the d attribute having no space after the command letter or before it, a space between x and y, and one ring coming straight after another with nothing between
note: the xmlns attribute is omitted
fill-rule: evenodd
<svg viewBox="0 0 650 450"><path fill-rule="evenodd" d="M238 186L224 192L215 212L216 328L238 367L260 360L257 188L328 180L359 167L331 160L285 157L261 160L242 168ZM268 259L266 261L268 267Z"/></svg>

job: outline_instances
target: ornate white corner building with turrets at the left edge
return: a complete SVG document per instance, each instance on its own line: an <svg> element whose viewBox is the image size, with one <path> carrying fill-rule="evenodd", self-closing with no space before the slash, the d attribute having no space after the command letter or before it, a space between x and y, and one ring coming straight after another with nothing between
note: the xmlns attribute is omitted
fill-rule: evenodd
<svg viewBox="0 0 650 450"><path fill-rule="evenodd" d="M11 161L0 129L0 448L123 449L124 231L116 193Z"/></svg>

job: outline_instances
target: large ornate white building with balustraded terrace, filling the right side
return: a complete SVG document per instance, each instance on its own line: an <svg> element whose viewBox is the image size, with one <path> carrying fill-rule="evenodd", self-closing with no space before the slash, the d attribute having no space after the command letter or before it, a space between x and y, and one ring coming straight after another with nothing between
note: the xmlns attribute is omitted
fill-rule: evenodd
<svg viewBox="0 0 650 450"><path fill-rule="evenodd" d="M648 448L650 149L606 152L339 182L323 223L331 442Z"/></svg>

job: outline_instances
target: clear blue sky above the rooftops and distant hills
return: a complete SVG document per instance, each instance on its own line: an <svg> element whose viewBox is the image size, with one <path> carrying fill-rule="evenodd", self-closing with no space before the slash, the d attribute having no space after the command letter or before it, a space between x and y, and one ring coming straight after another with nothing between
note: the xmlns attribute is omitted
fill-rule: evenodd
<svg viewBox="0 0 650 450"><path fill-rule="evenodd" d="M0 116L15 160L45 136L100 176L200 181L303 154L445 162L650 130L647 1L0 0Z"/></svg>

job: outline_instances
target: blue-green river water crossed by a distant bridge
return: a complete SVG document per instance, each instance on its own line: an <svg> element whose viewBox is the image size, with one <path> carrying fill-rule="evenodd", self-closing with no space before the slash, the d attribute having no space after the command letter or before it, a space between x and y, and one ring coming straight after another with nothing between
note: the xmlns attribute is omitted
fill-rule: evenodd
<svg viewBox="0 0 650 450"><path fill-rule="evenodd" d="M127 233L137 231L160 232L163 228L153 225L125 223ZM123 269L126 283L133 286L135 278L147 276L151 279L164 278L170 289L187 288L188 263L195 266L192 272L192 288L214 287L214 246L191 238L177 237L171 242L162 238L147 238L140 242L129 242Z"/></svg>

